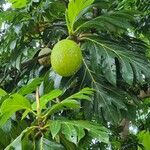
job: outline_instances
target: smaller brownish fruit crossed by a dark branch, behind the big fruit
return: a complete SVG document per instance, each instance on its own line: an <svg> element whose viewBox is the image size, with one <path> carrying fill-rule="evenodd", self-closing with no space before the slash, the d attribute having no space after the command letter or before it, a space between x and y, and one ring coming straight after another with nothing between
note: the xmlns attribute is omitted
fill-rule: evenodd
<svg viewBox="0 0 150 150"><path fill-rule="evenodd" d="M42 55L45 55L45 54L48 54L51 52L51 49L50 48L43 48L40 52L39 52L39 55L38 56L42 56ZM47 66L50 66L51 64L51 61L50 61L50 55L49 56L45 56L45 57L42 57L38 60L39 64L47 67Z"/></svg>

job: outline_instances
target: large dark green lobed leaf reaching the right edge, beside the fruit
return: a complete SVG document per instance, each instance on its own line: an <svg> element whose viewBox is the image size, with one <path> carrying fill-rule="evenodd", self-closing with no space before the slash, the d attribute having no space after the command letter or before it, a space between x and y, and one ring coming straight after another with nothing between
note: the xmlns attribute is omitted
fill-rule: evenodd
<svg viewBox="0 0 150 150"><path fill-rule="evenodd" d="M95 54L95 59L99 58L101 60L99 61L101 63L97 65L101 66L104 76L113 85L116 83L115 58L118 59L121 65L120 72L128 84L132 84L133 79L136 82L143 81L143 74L146 78L150 78L150 70L147 69L150 63L143 53L139 54L124 45L117 44L114 41L103 40L98 36L85 37L85 39L88 40L87 49L97 54Z"/></svg>

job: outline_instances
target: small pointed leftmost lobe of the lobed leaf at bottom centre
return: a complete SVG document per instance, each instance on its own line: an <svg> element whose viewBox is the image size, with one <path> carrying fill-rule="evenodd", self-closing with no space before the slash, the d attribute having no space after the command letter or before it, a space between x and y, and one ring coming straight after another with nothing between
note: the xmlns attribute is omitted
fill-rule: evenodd
<svg viewBox="0 0 150 150"><path fill-rule="evenodd" d="M59 133L60 129L61 129L61 123L59 121L51 122L51 124L50 124L50 131L51 131L53 139Z"/></svg>

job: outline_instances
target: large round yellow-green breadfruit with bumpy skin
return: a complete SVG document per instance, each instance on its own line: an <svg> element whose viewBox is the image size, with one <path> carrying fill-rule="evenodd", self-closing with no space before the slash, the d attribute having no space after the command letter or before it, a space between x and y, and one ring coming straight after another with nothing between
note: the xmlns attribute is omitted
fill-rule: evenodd
<svg viewBox="0 0 150 150"><path fill-rule="evenodd" d="M51 53L53 70L61 76L75 74L82 64L81 48L72 40L61 40L54 46Z"/></svg>

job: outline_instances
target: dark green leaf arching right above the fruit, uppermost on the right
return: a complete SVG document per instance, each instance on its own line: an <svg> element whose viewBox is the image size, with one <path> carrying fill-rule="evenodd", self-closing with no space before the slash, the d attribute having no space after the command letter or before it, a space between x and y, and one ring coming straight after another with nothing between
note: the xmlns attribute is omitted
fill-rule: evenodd
<svg viewBox="0 0 150 150"><path fill-rule="evenodd" d="M133 13L133 12L132 12ZM75 26L75 32L83 29L95 28L102 31L115 31L119 29L127 30L131 28L130 21L133 20L133 14L130 12L116 11L102 16L98 16L89 21L84 21Z"/></svg>

